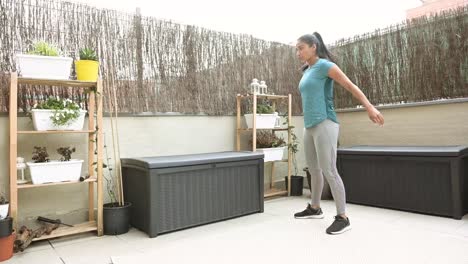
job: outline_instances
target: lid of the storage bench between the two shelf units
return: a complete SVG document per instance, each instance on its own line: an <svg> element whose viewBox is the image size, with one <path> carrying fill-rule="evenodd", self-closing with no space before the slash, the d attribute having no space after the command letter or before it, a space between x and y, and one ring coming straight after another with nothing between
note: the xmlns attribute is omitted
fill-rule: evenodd
<svg viewBox="0 0 468 264"><path fill-rule="evenodd" d="M122 167L142 167L148 169L171 168L189 165L201 165L220 162L263 159L263 153L250 151L226 151L189 155L158 156L143 158L123 158Z"/></svg>

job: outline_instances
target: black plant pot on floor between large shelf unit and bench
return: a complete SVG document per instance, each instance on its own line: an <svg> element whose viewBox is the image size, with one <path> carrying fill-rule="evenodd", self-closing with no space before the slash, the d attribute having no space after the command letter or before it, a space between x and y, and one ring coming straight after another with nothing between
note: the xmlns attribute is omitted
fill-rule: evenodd
<svg viewBox="0 0 468 264"><path fill-rule="evenodd" d="M125 202L123 206L119 206L118 203L104 204L104 235L120 235L128 232L131 206L129 202Z"/></svg>

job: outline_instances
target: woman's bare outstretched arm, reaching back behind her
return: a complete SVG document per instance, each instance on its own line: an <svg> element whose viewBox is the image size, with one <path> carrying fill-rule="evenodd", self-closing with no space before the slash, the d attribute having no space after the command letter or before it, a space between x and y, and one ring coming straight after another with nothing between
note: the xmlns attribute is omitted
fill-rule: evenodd
<svg viewBox="0 0 468 264"><path fill-rule="evenodd" d="M369 119L372 120L372 122L383 126L383 115L369 102L361 89L351 82L348 76L346 76L338 66L333 65L328 71L328 76L343 86L343 88L348 90L356 99L359 100L359 102L361 102L361 104L366 108Z"/></svg>

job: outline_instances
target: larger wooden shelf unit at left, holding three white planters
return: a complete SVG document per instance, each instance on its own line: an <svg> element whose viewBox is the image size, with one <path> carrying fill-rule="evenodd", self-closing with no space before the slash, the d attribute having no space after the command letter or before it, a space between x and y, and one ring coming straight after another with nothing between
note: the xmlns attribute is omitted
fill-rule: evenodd
<svg viewBox="0 0 468 264"><path fill-rule="evenodd" d="M17 229L18 225L18 190L31 189L48 186L61 186L70 184L88 184L88 221L75 225L74 227L60 226L54 230L50 235L44 235L36 240L44 240L54 237L61 237L66 235L78 234L89 231L97 231L98 236L103 235L103 136L102 136L102 80L97 82L82 82L75 80L48 80L48 79L33 79L18 77L16 72L10 74L10 216L13 218L13 226ZM86 88L89 90L88 99L88 128L98 127L99 130L80 130L80 131L18 131L18 85L42 85L42 86L59 86L59 87L76 87ZM96 113L96 117L94 115ZM88 137L88 174L90 178L83 182L57 182L47 184L17 184L18 171L16 169L16 157L18 155L18 135L25 134L34 136L35 134L86 134ZM94 144L95 134L97 133L97 154L95 156ZM95 173L93 163L94 158L97 158L97 172ZM97 194L97 216L95 217L94 209L94 188ZM25 190L27 191L27 190ZM17 229L18 230L18 229Z"/></svg>

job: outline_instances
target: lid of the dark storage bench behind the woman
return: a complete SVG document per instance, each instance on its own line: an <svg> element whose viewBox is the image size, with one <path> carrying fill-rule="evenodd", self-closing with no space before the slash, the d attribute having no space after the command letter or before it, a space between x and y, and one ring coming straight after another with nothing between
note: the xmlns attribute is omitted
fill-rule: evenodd
<svg viewBox="0 0 468 264"><path fill-rule="evenodd" d="M352 146L338 148L338 154L457 157L468 154L468 146Z"/></svg>

